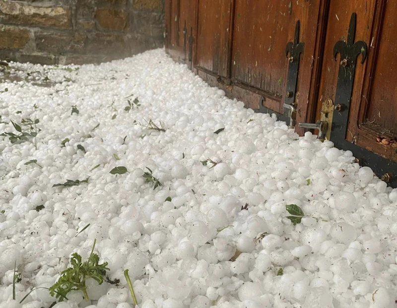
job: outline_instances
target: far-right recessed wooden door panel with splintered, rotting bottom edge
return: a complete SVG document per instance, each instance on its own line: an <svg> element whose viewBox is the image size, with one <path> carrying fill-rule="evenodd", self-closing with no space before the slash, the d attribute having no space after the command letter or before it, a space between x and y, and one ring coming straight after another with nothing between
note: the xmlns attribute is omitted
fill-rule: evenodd
<svg viewBox="0 0 397 308"><path fill-rule="evenodd" d="M396 14L396 1L379 1L370 41L370 69L367 70L359 112L350 116L351 123L358 123L351 128L357 136L357 145L394 162L397 162Z"/></svg>

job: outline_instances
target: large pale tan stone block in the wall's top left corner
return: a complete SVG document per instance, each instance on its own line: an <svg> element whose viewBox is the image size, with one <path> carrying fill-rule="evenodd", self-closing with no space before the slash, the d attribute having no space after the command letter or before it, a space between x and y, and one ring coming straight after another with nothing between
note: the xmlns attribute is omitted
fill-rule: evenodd
<svg viewBox="0 0 397 308"><path fill-rule="evenodd" d="M13 1L0 1L0 21L38 27L71 28L68 7L41 7Z"/></svg>

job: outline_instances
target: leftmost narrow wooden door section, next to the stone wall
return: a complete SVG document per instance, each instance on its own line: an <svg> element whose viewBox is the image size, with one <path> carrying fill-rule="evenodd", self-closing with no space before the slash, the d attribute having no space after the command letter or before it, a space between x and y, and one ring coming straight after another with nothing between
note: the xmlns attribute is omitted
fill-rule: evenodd
<svg viewBox="0 0 397 308"><path fill-rule="evenodd" d="M196 25L196 0L165 1L166 50L179 63L188 64L191 52L189 36Z"/></svg>

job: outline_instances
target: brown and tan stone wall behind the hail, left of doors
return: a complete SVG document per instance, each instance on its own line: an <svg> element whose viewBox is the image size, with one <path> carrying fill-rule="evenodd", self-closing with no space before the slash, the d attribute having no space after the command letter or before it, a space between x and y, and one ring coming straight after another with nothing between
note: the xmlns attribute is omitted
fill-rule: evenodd
<svg viewBox="0 0 397 308"><path fill-rule="evenodd" d="M164 0L0 0L0 59L98 63L163 46Z"/></svg>

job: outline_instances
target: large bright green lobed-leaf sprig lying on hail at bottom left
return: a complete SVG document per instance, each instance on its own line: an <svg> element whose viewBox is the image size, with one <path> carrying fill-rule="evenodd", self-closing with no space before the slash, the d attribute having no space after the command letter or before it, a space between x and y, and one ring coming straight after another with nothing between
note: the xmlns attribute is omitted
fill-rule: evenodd
<svg viewBox="0 0 397 308"><path fill-rule="evenodd" d="M88 260L85 262L82 262L81 256L78 253L75 252L72 254L70 258L72 267L62 271L61 277L50 287L49 292L51 296L55 296L62 302L70 291L79 290L83 292L84 299L87 302L90 300L85 284L86 280L92 278L101 285L106 277L106 271L110 270L107 267L108 262L99 264L99 256L94 253L95 244L96 239L94 240Z"/></svg>

